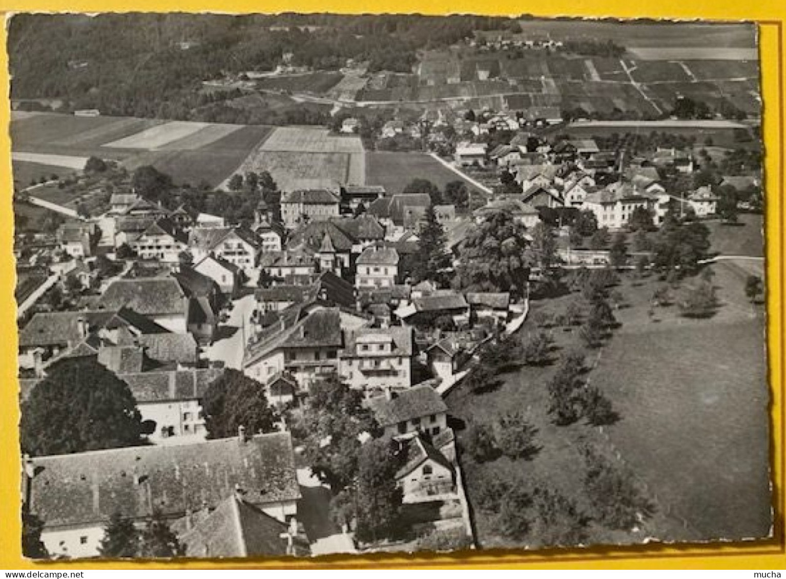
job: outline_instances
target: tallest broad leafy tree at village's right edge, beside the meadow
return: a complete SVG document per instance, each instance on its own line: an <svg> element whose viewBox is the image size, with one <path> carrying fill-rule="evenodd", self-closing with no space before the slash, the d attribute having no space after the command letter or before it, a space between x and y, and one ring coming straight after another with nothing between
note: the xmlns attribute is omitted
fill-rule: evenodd
<svg viewBox="0 0 786 579"><path fill-rule="evenodd" d="M523 225L502 211L473 225L461 244L461 263L454 286L465 291L510 291L515 297L523 295L530 273L525 233Z"/></svg>

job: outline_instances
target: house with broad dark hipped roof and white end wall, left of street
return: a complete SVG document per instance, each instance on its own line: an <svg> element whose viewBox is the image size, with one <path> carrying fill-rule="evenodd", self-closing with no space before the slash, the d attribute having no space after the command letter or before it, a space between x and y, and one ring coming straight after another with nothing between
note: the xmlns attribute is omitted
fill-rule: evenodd
<svg viewBox="0 0 786 579"><path fill-rule="evenodd" d="M112 281L101 295L106 310L129 308L170 332L185 334L188 299L174 277L137 277Z"/></svg>

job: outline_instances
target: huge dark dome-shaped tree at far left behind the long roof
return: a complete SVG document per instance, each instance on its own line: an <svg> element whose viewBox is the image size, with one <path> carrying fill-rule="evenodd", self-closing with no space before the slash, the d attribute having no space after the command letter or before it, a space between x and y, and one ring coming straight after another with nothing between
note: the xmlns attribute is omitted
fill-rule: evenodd
<svg viewBox="0 0 786 579"><path fill-rule="evenodd" d="M140 445L141 416L127 383L94 357L48 369L22 405L22 449L32 456Z"/></svg>

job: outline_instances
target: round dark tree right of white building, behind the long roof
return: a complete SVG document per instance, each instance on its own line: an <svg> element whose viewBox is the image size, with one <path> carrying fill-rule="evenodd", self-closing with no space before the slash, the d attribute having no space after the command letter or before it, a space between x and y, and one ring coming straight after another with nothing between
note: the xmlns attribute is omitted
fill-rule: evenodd
<svg viewBox="0 0 786 579"><path fill-rule="evenodd" d="M270 407L265 387L243 372L227 369L204 393L208 438L229 438L244 427L248 433L276 430L277 413Z"/></svg>

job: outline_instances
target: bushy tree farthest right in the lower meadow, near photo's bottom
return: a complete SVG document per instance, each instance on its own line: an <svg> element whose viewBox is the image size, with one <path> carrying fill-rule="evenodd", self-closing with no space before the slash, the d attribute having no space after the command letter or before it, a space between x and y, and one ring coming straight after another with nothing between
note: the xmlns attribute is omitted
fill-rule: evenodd
<svg viewBox="0 0 786 579"><path fill-rule="evenodd" d="M630 530L654 505L634 483L630 474L611 460L587 447L584 486L593 507L593 518L615 530Z"/></svg>

